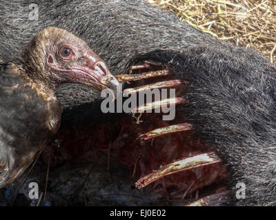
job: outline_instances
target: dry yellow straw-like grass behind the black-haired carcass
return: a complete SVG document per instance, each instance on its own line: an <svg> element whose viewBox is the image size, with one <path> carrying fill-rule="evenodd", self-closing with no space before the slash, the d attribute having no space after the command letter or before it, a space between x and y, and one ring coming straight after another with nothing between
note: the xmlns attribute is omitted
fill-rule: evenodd
<svg viewBox="0 0 276 220"><path fill-rule="evenodd" d="M276 0L148 0L195 28L276 61Z"/></svg>

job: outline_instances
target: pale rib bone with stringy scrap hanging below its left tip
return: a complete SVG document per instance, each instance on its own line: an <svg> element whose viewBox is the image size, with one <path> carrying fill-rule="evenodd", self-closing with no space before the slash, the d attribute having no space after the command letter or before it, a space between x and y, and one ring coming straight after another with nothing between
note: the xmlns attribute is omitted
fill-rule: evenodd
<svg viewBox="0 0 276 220"><path fill-rule="evenodd" d="M140 105L136 109L132 109L131 112L132 113L144 112L150 109L156 109L163 106L168 106L169 104L181 104L184 102L185 102L184 98L167 98L156 102L146 103L145 105Z"/></svg>

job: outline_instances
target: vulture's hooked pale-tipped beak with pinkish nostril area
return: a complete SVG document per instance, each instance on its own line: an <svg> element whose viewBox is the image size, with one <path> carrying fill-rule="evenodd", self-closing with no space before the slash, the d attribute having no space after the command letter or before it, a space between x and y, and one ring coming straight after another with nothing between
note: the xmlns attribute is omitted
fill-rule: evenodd
<svg viewBox="0 0 276 220"><path fill-rule="evenodd" d="M86 76L89 78L85 84L90 87L95 87L100 91L103 89L110 89L113 98L116 98L120 83L115 76L110 73L106 63L104 63L94 52L85 54L84 58L86 59L86 65L81 71L85 72Z"/></svg>

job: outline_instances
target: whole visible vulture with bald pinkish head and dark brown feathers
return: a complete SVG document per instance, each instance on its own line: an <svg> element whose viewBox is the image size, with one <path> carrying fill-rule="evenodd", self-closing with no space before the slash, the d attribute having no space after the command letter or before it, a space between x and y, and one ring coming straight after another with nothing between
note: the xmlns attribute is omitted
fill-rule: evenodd
<svg viewBox="0 0 276 220"><path fill-rule="evenodd" d="M19 177L57 133L61 83L101 90L118 82L84 41L61 28L39 32L20 57L1 63L0 187Z"/></svg>

